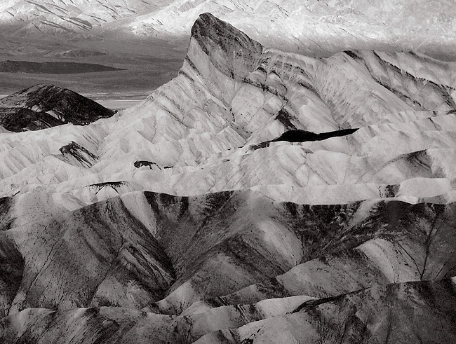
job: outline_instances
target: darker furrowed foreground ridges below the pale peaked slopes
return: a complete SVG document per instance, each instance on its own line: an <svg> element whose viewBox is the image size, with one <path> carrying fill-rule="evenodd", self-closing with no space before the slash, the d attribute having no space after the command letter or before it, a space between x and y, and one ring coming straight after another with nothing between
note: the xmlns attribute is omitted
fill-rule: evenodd
<svg viewBox="0 0 456 344"><path fill-rule="evenodd" d="M1 338L6 343L15 338L60 343L72 336L74 326L81 326L93 340L125 339L132 330L127 324L144 318L149 325L135 325L139 343L149 336L192 343L211 331L243 325L248 326L239 336L248 337L245 333L256 331L256 322L269 317L274 322L291 321L293 328L293 317L326 305L324 319L347 321L354 313L339 314L331 307L343 308L335 302L346 298L358 304L358 295L366 290L368 296L359 297L373 299L369 302L374 305L382 304L382 293L391 295L391 289L403 295L403 288L431 288L416 297L453 302L455 287L448 277L456 273L451 250L456 240L454 207L397 201L308 206L273 202L251 191L192 198L147 192L51 215L46 221L13 224L1 233L2 266L8 271L2 276L15 282L2 289L3 311L9 316L1 320ZM23 265L13 266L14 261ZM429 280L441 282L422 282ZM257 283L255 288L249 287L252 282ZM415 298L410 292L405 299L398 296L403 300L400 307L407 308L404 315L422 312L432 321L438 312L450 321L450 306L427 303L422 309L422 302L407 299ZM167 296L160 301L163 295ZM314 299L321 301L309 301ZM105 307L86 308L94 306ZM288 315L293 311L295 315ZM363 311L373 318L361 321L380 322L384 311L378 311L378 317L370 308ZM108 320L109 329L117 330L100 331L100 322L114 315L125 327ZM86 320L75 324L68 317ZM212 322L213 317L219 320ZM311 324L330 326L324 319ZM397 324L399 318L390 320ZM24 332L28 322L35 325ZM170 337L166 333L175 326L176 337ZM155 334L146 336L149 331ZM293 328L297 338L325 338L326 331L309 334L300 326ZM385 331L377 326L363 336L382 337ZM213 334L207 336L214 340ZM260 336L273 335L264 331ZM442 336L452 338L454 333L445 329Z"/></svg>

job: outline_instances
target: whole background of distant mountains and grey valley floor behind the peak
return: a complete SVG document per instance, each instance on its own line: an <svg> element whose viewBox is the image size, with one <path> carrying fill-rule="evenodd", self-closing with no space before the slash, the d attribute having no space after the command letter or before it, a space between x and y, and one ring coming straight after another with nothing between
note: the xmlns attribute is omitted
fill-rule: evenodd
<svg viewBox="0 0 456 344"><path fill-rule="evenodd" d="M0 94L51 83L79 93L146 97L177 74L192 25L206 12L262 46L311 57L382 50L456 60L452 0L8 0L0 4L0 62L49 68L44 75L0 71ZM55 62L124 71L58 75Z"/></svg>

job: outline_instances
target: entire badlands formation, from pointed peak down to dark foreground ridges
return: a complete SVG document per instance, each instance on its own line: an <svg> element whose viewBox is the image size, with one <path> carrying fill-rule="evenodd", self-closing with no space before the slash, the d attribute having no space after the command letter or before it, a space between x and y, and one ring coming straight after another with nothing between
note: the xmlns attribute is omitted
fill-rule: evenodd
<svg viewBox="0 0 456 344"><path fill-rule="evenodd" d="M205 13L177 77L71 123L1 129L1 343L456 342L455 62Z"/></svg>

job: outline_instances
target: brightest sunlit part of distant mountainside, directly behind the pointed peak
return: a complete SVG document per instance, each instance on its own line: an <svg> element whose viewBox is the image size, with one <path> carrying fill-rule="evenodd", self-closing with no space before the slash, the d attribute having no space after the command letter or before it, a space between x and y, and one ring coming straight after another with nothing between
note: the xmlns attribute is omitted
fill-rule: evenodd
<svg viewBox="0 0 456 344"><path fill-rule="evenodd" d="M327 56L347 49L394 48L456 59L452 0L175 0L119 25L137 35L186 35L206 12L265 46L288 51Z"/></svg>

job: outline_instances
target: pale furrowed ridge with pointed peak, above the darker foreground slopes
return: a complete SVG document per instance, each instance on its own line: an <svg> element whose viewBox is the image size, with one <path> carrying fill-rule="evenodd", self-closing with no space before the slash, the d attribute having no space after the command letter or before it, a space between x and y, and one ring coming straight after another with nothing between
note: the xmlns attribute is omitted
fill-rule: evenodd
<svg viewBox="0 0 456 344"><path fill-rule="evenodd" d="M399 188L417 202L426 193L411 180L434 188L429 196L453 190L454 66L414 53L347 51L323 60L285 53L204 14L180 75L139 106L88 127L49 129L33 143L4 135L1 188L40 184L86 203L118 194L109 185L119 183L176 195L255 187L281 200L324 203ZM361 129L248 148L287 130L325 136L341 128ZM100 193L95 184L107 188ZM298 197L290 187L313 192Z"/></svg>

